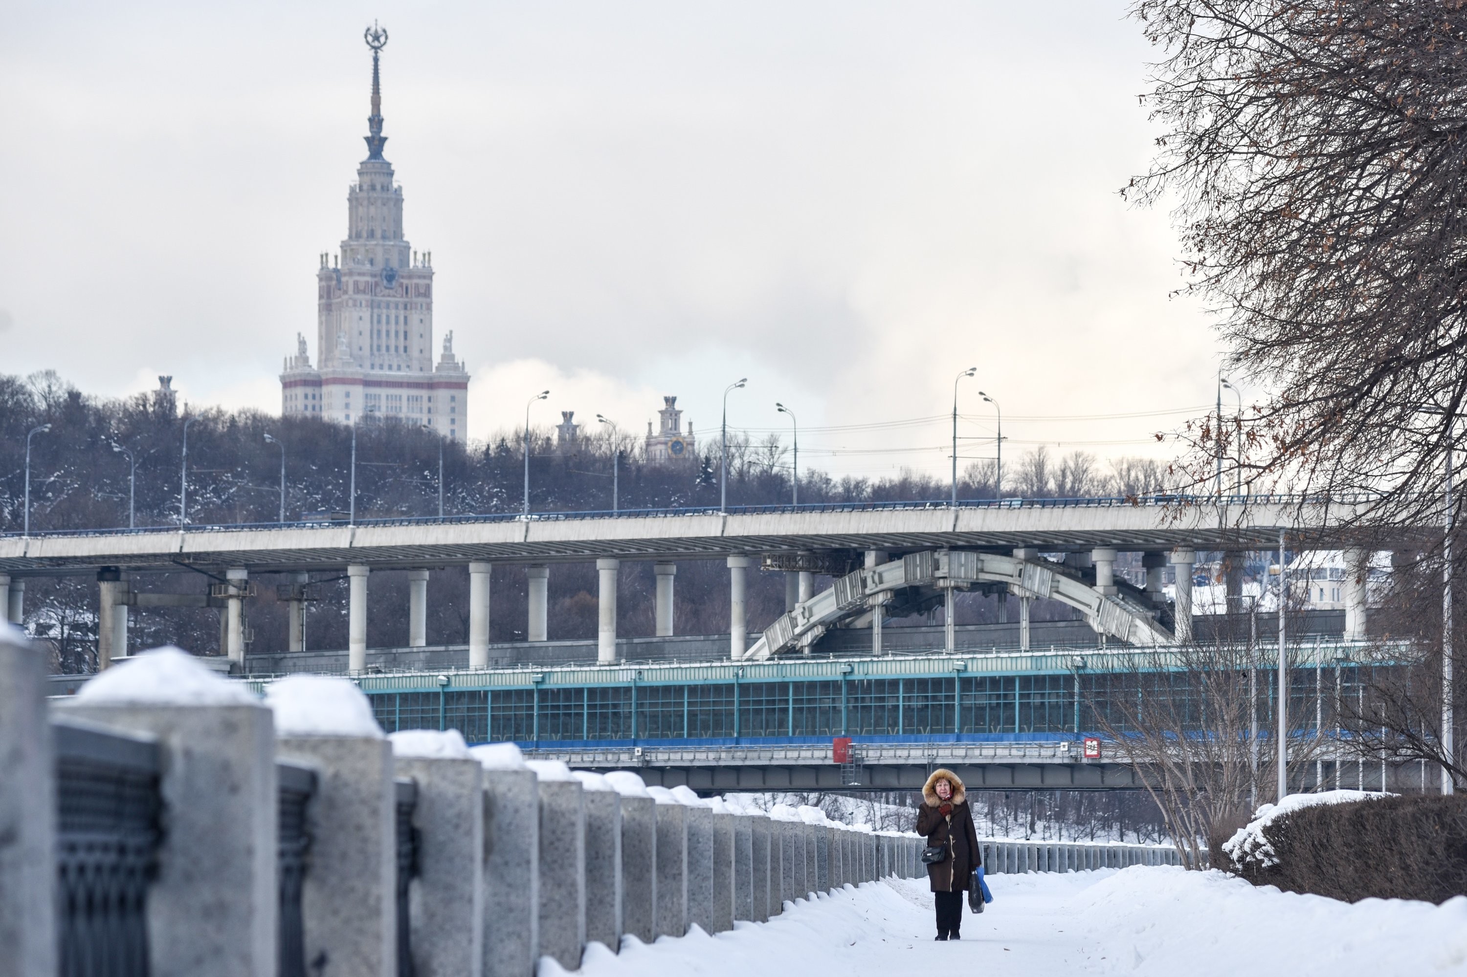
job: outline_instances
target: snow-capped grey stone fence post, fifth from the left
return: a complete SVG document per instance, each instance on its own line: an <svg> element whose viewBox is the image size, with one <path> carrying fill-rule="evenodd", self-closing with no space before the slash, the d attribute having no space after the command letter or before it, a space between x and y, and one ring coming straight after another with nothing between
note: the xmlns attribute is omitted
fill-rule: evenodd
<svg viewBox="0 0 1467 977"><path fill-rule="evenodd" d="M531 977L540 959L540 782L512 742L469 753L484 769L484 977Z"/></svg>

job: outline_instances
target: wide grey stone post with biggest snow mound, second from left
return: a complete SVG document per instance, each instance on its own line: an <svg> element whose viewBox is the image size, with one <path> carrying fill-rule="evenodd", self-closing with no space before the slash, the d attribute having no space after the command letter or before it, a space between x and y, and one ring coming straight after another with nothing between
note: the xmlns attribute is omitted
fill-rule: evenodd
<svg viewBox="0 0 1467 977"><path fill-rule="evenodd" d="M18 701L6 700L0 711L16 711L13 719L25 722L26 706L22 695ZM244 685L220 678L186 651L158 648L92 678L73 698L59 703L57 713L157 738L158 794L167 830L157 848L157 874L148 885L151 973L273 974L279 959L279 785L271 711ZM371 729L376 739L368 742L386 772L390 798L392 757L381 731L376 723ZM38 731L37 739L22 748L26 747L50 754L48 731ZM13 783L40 794L51 805L54 794L35 788L50 782L51 773ZM390 811L389 802L389 829ZM390 851L389 845L386 854ZM50 873L54 871L53 863ZM384 899L392 907L392 876L387 880ZM40 902L40 893L48 892L50 880L18 895ZM210 910L205 926L200 924L201 907ZM50 901L44 912L50 918ZM377 936L386 939L390 932ZM45 930L44 939L54 939L53 930ZM28 942L26 937L6 942L4 955L15 955Z"/></svg>

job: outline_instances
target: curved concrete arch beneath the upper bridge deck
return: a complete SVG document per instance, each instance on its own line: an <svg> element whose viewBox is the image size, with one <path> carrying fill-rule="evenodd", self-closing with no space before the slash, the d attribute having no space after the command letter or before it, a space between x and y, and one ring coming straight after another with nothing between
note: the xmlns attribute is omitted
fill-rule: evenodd
<svg viewBox="0 0 1467 977"><path fill-rule="evenodd" d="M1138 647L1175 644L1152 607L1121 594L1102 594L1047 560L1025 560L968 550L921 550L879 566L836 578L794 610L780 615L745 651L741 662L760 662L814 644L826 631L871 610L883 594L899 591L967 590L974 584L1003 584L1020 597L1046 597L1084 615L1097 632ZM873 597L876 600L873 600Z"/></svg>

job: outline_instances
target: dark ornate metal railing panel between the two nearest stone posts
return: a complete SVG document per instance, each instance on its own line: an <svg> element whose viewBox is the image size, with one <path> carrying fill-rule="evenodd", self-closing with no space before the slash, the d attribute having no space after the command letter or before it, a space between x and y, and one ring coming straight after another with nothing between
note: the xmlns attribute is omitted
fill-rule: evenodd
<svg viewBox="0 0 1467 977"><path fill-rule="evenodd" d="M148 883L160 838L157 744L76 720L53 731L57 973L147 977Z"/></svg>

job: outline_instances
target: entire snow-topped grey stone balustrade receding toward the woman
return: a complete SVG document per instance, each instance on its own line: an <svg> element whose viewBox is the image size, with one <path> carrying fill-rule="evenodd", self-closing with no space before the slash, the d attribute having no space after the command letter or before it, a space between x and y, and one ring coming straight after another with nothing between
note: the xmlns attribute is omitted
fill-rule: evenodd
<svg viewBox="0 0 1467 977"><path fill-rule="evenodd" d="M0 846L0 977L56 970L43 665L0 634L0 735L25 747L0 753L0 830L18 839ZM273 977L282 933L324 976L534 977L541 958L577 970L593 940L720 933L917 864L918 839L813 808L735 813L631 772L527 761L513 744L468 750L452 731L387 738L348 679L292 676L261 703L172 650L53 709L103 731L89 736L157 751L167 820L147 905L150 968L166 977ZM286 760L304 769L277 773ZM298 904L283 895L292 879Z"/></svg>

